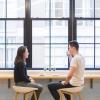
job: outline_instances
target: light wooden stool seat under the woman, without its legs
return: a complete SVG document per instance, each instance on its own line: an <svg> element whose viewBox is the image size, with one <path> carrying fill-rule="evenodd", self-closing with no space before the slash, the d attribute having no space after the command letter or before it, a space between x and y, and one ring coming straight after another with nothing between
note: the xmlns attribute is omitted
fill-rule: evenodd
<svg viewBox="0 0 100 100"><path fill-rule="evenodd" d="M28 93L28 92L38 90L37 88L22 87L22 86L13 86L13 89L15 90L15 92L18 92L18 93Z"/></svg>

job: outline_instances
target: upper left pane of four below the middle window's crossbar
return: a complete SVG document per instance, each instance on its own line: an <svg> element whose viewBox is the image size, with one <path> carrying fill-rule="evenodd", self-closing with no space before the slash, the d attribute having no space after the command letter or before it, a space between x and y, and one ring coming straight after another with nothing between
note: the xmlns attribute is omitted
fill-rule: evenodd
<svg viewBox="0 0 100 100"><path fill-rule="evenodd" d="M48 21L32 21L32 42L49 43Z"/></svg>

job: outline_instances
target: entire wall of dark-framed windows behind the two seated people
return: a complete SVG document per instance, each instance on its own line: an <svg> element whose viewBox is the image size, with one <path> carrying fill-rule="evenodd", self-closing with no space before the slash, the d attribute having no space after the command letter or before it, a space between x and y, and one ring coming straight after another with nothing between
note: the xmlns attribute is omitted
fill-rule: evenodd
<svg viewBox="0 0 100 100"><path fill-rule="evenodd" d="M26 45L30 68L66 69L68 42L77 40L86 69L100 69L99 10L99 0L0 0L0 68L13 68Z"/></svg>

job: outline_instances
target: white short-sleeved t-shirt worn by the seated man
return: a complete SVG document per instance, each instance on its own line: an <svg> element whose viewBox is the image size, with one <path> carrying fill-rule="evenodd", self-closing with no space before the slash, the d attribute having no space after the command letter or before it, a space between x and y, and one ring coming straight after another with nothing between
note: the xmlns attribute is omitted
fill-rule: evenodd
<svg viewBox="0 0 100 100"><path fill-rule="evenodd" d="M76 67L77 70L70 80L70 84L73 86L81 86L84 84L84 69L85 69L85 60L84 57L80 54L72 57L70 62L70 67Z"/></svg>

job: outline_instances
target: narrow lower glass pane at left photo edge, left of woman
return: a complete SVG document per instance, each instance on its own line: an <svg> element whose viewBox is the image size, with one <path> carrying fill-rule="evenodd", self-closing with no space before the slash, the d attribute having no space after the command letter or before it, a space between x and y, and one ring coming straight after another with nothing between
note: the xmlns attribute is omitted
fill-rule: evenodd
<svg viewBox="0 0 100 100"><path fill-rule="evenodd" d="M5 68L5 45L0 44L0 68Z"/></svg>

